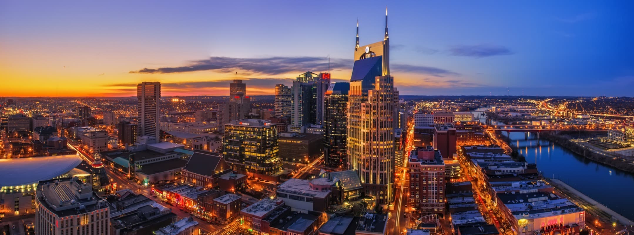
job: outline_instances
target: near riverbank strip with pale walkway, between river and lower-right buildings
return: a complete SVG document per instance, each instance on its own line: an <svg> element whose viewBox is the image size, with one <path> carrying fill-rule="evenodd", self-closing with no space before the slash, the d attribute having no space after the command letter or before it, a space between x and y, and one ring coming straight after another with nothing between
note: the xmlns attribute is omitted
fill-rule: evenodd
<svg viewBox="0 0 634 235"><path fill-rule="evenodd" d="M563 181L560 181L559 179L547 179L547 181L550 182L550 184L555 186L555 188L559 189L560 191L563 189L567 191L568 193L571 193L577 196L575 201L577 201L578 205L583 206L586 210L589 210L590 213L593 213L595 215L598 215L604 218L607 217L606 219L614 218L618 220L619 224L634 225L634 222L632 220L629 220L623 215L614 212L610 208L607 208L607 206L601 203L598 203L598 201L593 200L589 196L586 196L586 194L579 192L577 189L574 189L574 187L569 186Z"/></svg>

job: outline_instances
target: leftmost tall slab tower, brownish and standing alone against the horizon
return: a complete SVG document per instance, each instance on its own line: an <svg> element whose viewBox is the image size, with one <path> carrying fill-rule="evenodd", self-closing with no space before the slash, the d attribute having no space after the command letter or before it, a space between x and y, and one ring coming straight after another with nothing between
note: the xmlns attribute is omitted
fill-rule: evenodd
<svg viewBox="0 0 634 235"><path fill-rule="evenodd" d="M160 82L142 82L136 86L139 136L152 136L159 141Z"/></svg>

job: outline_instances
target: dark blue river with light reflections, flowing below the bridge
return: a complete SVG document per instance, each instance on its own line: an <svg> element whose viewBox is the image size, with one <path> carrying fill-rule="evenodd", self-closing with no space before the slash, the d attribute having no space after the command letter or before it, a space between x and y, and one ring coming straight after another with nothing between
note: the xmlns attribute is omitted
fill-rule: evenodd
<svg viewBox="0 0 634 235"><path fill-rule="evenodd" d="M503 132L504 135L507 132ZM527 137L527 139L525 139ZM544 177L559 179L595 201L634 220L634 174L593 162L536 134L510 132L511 144L529 163L537 163Z"/></svg>

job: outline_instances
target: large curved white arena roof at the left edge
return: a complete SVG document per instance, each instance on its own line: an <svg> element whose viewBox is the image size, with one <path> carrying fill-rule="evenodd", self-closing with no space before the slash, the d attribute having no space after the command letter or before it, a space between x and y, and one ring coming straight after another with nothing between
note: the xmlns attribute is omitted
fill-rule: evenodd
<svg viewBox="0 0 634 235"><path fill-rule="evenodd" d="M0 159L0 187L35 184L53 179L69 172L81 162L77 155Z"/></svg>

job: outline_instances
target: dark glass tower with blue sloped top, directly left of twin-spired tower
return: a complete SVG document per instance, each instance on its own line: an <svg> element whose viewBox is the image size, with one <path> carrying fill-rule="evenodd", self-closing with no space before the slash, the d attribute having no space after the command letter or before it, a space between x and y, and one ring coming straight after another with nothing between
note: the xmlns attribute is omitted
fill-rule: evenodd
<svg viewBox="0 0 634 235"><path fill-rule="evenodd" d="M325 162L329 167L346 166L346 115L349 82L330 84L325 96L323 145Z"/></svg>

